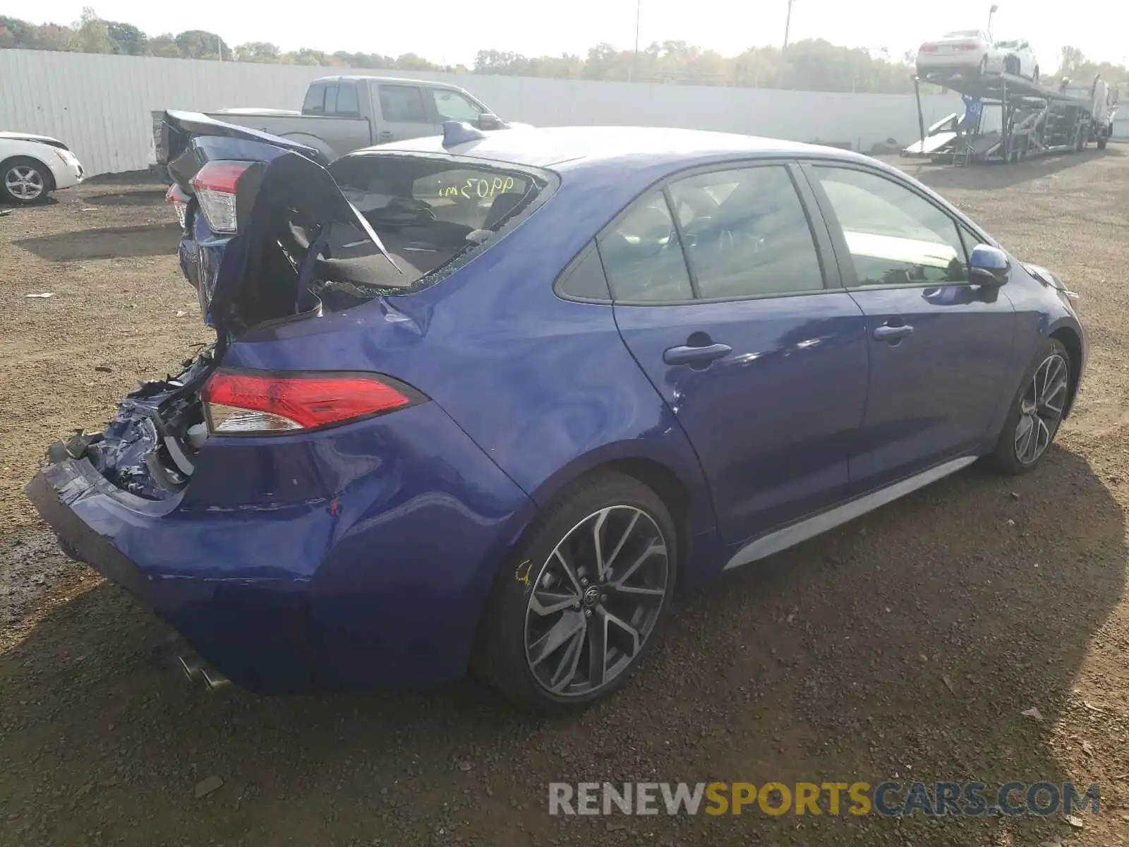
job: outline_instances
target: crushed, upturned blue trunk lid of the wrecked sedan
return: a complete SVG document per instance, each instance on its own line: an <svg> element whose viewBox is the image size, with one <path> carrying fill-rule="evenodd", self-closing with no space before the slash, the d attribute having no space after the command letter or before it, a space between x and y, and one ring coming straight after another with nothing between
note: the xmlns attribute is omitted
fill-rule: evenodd
<svg viewBox="0 0 1129 847"><path fill-rule="evenodd" d="M166 112L161 132L170 200L185 204L181 268L220 352L248 326L317 314L310 283L325 263L376 254L395 267L314 148L192 112Z"/></svg>

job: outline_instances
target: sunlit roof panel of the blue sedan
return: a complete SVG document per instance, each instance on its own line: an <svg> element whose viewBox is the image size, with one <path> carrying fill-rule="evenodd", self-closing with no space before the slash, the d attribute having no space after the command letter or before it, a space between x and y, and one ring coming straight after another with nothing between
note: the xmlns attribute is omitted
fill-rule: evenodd
<svg viewBox="0 0 1129 847"><path fill-rule="evenodd" d="M817 155L866 159L847 150L796 141L654 126L519 126L488 132L483 139L450 148L443 146L441 137L430 137L380 145L357 152L364 155L384 151L450 154L558 172L601 165L636 165L649 169L668 164L675 169L675 166L683 168L726 159L770 156Z"/></svg>

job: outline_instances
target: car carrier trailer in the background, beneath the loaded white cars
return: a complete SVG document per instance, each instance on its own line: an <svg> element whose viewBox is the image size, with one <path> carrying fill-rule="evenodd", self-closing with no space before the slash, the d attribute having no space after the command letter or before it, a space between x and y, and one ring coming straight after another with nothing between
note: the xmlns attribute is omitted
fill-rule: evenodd
<svg viewBox="0 0 1129 847"><path fill-rule="evenodd" d="M979 113L971 120L954 113L927 130L921 111L922 79L978 99ZM1082 89L1068 85L1050 88L1010 73L975 70L931 72L913 81L921 140L902 150L902 156L954 165L1010 163L1080 151L1091 142L1102 149L1113 132L1117 105L1101 78ZM989 110L999 110L998 129L984 126Z"/></svg>

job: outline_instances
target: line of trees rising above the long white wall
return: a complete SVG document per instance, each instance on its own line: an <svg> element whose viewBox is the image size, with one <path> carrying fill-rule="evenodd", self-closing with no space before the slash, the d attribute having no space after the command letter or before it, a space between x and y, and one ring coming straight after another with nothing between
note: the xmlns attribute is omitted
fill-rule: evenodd
<svg viewBox="0 0 1129 847"><path fill-rule="evenodd" d="M811 38L779 47L750 47L735 56L684 41L656 42L640 50L616 50L601 43L587 54L530 58L519 53L480 50L472 68L443 66L415 53L388 56L301 49L283 51L269 42L228 45L218 34L187 29L174 35L147 35L132 24L105 20L90 7L70 26L30 24L0 16L0 47L56 50L80 53L152 55L170 59L211 59L225 62L306 64L326 68L395 69L495 73L554 79L595 79L683 85L788 88L813 91L905 94L913 90L913 54L894 56L884 49L865 50ZM1110 82L1129 82L1123 66L1087 60L1077 47L1064 47L1061 71L1071 79L1101 75Z"/></svg>

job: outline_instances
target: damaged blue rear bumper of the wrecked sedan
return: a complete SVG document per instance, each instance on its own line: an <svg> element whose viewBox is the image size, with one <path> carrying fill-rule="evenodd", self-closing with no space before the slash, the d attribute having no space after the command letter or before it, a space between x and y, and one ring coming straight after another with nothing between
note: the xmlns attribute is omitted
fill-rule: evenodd
<svg viewBox="0 0 1129 847"><path fill-rule="evenodd" d="M465 672L498 561L534 507L436 403L308 436L213 439L209 453L183 491L148 500L56 444L26 491L68 555L240 688L414 688ZM278 490L271 468L334 494L248 503Z"/></svg>

